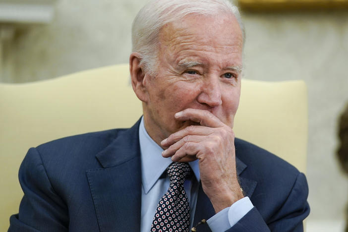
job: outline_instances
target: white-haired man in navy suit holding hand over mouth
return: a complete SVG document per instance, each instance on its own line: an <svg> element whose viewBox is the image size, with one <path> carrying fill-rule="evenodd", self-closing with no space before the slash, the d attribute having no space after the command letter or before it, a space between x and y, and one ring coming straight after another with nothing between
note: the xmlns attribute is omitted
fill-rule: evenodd
<svg viewBox="0 0 348 232"><path fill-rule="evenodd" d="M303 231L304 175L234 138L244 42L237 8L154 0L132 32L143 117L130 129L31 148L9 231Z"/></svg>

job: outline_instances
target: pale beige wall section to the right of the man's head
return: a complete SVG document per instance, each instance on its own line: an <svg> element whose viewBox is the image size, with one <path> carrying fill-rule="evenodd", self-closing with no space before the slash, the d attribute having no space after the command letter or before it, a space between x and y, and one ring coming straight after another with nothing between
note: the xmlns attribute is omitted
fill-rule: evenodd
<svg viewBox="0 0 348 232"><path fill-rule="evenodd" d="M245 77L308 86L309 219L342 218L348 179L335 150L337 117L348 102L348 14L246 14L244 21Z"/></svg>

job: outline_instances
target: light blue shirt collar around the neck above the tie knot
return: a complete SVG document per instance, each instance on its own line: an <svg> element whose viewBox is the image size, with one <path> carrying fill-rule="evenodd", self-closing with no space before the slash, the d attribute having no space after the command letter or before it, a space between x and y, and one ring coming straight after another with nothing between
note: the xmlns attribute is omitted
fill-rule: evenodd
<svg viewBox="0 0 348 232"><path fill-rule="evenodd" d="M145 194L154 186L167 167L172 163L171 158L162 157L163 149L149 136L144 126L144 117L139 125L139 142L141 153L141 178ZM199 181L198 160L188 163Z"/></svg>

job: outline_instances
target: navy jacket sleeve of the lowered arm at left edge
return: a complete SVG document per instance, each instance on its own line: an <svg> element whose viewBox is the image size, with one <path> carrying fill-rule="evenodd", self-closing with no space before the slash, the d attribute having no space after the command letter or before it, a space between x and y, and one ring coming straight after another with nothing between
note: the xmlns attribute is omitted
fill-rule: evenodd
<svg viewBox="0 0 348 232"><path fill-rule="evenodd" d="M37 149L29 149L19 168L24 196L8 232L67 232L68 210L51 185Z"/></svg>

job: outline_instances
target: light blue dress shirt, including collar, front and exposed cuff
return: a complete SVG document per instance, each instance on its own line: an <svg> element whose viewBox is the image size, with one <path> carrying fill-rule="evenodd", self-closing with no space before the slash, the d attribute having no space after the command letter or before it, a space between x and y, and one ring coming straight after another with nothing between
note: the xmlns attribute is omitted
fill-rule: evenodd
<svg viewBox="0 0 348 232"><path fill-rule="evenodd" d="M141 152L141 232L149 232L155 215L158 202L167 192L170 181L168 176L160 178L172 163L171 158L163 158L163 149L147 133L143 118L139 126L139 142ZM197 204L199 187L199 166L198 160L189 163L194 176L185 180L184 188L190 204L191 227ZM223 232L238 222L253 205L248 197L244 197L232 204L212 218L207 223L212 232Z"/></svg>

